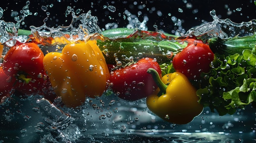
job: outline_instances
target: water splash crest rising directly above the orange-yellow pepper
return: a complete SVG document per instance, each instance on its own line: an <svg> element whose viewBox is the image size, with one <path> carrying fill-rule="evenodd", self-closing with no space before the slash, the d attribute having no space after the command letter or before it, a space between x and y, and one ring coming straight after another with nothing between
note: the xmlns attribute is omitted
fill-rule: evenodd
<svg viewBox="0 0 256 143"><path fill-rule="evenodd" d="M79 16L72 11L72 17L69 26L58 26L57 28L48 27L46 24L40 27L30 26L31 34L43 45L68 44L99 38L101 30L97 25L98 18L92 16L91 11Z"/></svg>

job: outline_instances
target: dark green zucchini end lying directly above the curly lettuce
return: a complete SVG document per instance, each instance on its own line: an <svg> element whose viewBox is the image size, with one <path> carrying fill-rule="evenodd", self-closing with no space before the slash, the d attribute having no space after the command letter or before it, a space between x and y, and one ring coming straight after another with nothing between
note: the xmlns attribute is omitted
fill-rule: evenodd
<svg viewBox="0 0 256 143"><path fill-rule="evenodd" d="M213 53L220 55L234 55L236 53L242 55L243 50L253 50L256 44L256 34L245 37L234 37L229 39L221 39L220 37L212 38L208 41Z"/></svg>

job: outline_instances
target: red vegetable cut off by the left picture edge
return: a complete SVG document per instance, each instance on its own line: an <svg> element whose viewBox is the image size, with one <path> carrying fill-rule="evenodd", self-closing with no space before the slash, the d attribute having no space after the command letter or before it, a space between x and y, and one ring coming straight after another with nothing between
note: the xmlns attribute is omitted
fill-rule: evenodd
<svg viewBox="0 0 256 143"><path fill-rule="evenodd" d="M13 83L9 80L9 77L4 73L4 70L0 67L0 99L2 97L10 97L13 90Z"/></svg>

